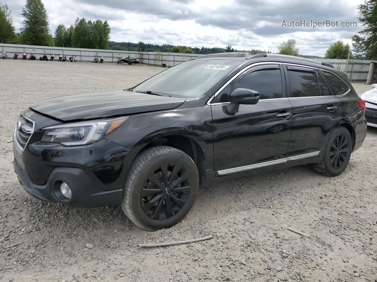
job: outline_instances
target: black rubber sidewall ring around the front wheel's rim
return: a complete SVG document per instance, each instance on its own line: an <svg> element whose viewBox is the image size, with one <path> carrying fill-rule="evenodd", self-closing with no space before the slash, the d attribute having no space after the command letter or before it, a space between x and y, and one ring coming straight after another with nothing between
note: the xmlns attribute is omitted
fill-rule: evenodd
<svg viewBox="0 0 377 282"><path fill-rule="evenodd" d="M173 217L168 218L166 220L154 220L150 217L148 217L141 207L140 203L140 193L141 188L143 187L144 181L148 177L148 175L156 168L159 167L159 165L162 165L164 163L169 162L176 162L180 165L182 165L187 172L190 174L190 180L191 180L191 193L189 197L187 198L187 201L184 205L184 207L178 212L178 214L175 214ZM151 229L163 229L163 228L169 228L177 223L179 223L190 211L192 208L196 196L198 194L198 187L199 187L199 175L198 175L198 169L196 168L195 163L189 156L180 155L178 153L168 153L165 155L160 155L152 160L150 160L147 165L143 168L141 173L139 173L138 176L136 176L136 179L132 183L132 197L131 197L131 203L128 203L131 206L131 209L133 211L133 215L138 218L139 221L141 221L146 226L149 226Z"/></svg>

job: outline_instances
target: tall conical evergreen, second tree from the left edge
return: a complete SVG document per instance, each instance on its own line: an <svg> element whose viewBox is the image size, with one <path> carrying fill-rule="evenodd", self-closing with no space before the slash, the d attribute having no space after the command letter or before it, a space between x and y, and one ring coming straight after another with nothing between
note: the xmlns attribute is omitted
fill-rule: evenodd
<svg viewBox="0 0 377 282"><path fill-rule="evenodd" d="M26 45L53 46L47 11L41 0L26 0L21 15L25 18L21 27L21 41Z"/></svg>

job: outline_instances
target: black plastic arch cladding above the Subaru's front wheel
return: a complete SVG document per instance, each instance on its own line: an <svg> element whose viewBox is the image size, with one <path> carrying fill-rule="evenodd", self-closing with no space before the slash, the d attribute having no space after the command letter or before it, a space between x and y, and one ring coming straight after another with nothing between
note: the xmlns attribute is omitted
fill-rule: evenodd
<svg viewBox="0 0 377 282"><path fill-rule="evenodd" d="M144 150L154 146L170 146L185 152L195 162L196 168L199 173L199 185L202 185L205 180L205 158L202 147L190 135L171 134L164 136L156 136L152 141L139 147L136 152L141 153ZM133 149L134 150L134 149Z"/></svg>

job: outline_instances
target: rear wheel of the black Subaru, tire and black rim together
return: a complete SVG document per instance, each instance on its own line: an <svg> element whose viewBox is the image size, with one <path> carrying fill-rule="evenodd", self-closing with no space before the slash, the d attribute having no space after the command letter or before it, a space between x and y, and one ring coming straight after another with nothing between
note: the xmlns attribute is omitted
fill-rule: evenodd
<svg viewBox="0 0 377 282"><path fill-rule="evenodd" d="M340 143L340 146L338 143ZM340 149L338 149L339 147ZM325 147L323 158L321 162L314 164L313 168L317 173L326 176L338 176L346 169L349 158L351 158L351 153L351 135L345 127L339 126L331 132Z"/></svg>

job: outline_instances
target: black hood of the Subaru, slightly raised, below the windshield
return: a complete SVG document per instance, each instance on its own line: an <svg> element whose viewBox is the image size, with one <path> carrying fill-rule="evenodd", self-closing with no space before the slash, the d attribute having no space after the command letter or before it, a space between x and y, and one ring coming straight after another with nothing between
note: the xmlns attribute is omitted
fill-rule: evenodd
<svg viewBox="0 0 377 282"><path fill-rule="evenodd" d="M174 109L185 100L116 90L50 98L30 108L58 120L72 121Z"/></svg>

